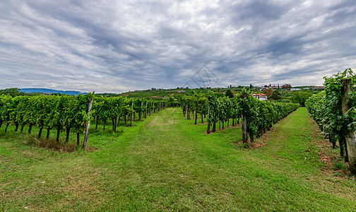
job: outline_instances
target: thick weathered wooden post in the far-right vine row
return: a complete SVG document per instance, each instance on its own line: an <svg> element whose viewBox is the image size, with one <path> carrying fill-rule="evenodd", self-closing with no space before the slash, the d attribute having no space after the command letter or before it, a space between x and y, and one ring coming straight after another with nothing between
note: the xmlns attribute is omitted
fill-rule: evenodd
<svg viewBox="0 0 356 212"><path fill-rule="evenodd" d="M343 107L343 117L345 117L345 113L352 107L350 101L349 92L352 91L352 81L349 78L342 79L341 84L341 104ZM350 164L350 172L352 175L356 175L356 138L355 131L353 129L348 131L346 136L346 149L348 153L348 161Z"/></svg>

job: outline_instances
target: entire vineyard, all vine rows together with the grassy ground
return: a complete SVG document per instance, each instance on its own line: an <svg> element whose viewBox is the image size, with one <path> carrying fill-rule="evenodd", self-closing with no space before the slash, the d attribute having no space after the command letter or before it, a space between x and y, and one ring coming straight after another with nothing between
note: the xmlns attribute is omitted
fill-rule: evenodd
<svg viewBox="0 0 356 212"><path fill-rule="evenodd" d="M244 89L1 95L0 211L355 211L355 78L326 77L307 107Z"/></svg>

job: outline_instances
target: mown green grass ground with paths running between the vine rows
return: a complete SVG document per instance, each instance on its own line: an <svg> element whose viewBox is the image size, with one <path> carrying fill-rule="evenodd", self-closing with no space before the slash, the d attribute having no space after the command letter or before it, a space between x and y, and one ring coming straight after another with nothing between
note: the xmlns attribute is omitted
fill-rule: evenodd
<svg viewBox="0 0 356 212"><path fill-rule="evenodd" d="M65 153L0 130L0 211L356 211L356 182L305 108L242 148L241 129L206 134L177 108L96 151ZM54 132L53 132L54 133ZM31 136L30 136L31 137Z"/></svg>

